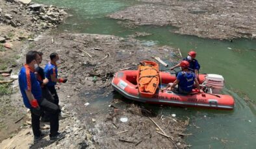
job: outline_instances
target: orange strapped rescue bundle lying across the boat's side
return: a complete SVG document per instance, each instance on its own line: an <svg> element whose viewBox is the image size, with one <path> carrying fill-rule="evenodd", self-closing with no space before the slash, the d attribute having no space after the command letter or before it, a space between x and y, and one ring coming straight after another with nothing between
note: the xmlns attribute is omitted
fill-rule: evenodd
<svg viewBox="0 0 256 149"><path fill-rule="evenodd" d="M137 84L142 97L153 97L159 87L159 65L151 61L140 62Z"/></svg>

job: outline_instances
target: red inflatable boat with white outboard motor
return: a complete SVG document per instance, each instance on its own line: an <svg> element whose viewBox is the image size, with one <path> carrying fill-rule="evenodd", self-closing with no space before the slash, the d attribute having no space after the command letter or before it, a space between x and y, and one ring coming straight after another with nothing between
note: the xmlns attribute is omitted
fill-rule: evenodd
<svg viewBox="0 0 256 149"><path fill-rule="evenodd" d="M220 75L199 75L199 83L204 93L193 91L182 95L175 91L165 91L162 87L174 82L175 76L160 72L160 87L153 97L142 97L138 92L136 78L138 71L119 71L114 75L112 86L124 97L149 104L170 104L173 106L194 106L210 109L233 109L235 100L230 95L218 94L224 87L224 78Z"/></svg>

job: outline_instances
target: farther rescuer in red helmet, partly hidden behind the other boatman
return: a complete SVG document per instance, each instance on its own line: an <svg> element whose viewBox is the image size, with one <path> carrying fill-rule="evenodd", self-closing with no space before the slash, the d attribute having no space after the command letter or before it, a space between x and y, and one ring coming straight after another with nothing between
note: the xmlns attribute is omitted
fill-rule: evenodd
<svg viewBox="0 0 256 149"><path fill-rule="evenodd" d="M196 60L195 58L196 58L196 52L195 51L190 51L190 52L188 52L188 56L186 56L186 58L183 58L183 60L186 60L186 61L189 62L188 69L190 71L192 71L193 73L195 73L196 74L196 78L198 78L198 73L199 73L200 65L198 63L198 60ZM181 63L178 63L177 65L173 66L172 68L170 68L170 70L172 71L176 67L181 67Z"/></svg>

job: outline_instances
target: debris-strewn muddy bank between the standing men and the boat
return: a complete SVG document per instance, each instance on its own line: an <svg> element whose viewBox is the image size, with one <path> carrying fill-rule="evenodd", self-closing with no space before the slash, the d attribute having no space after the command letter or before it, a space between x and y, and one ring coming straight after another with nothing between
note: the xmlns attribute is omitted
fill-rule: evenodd
<svg viewBox="0 0 256 149"><path fill-rule="evenodd" d="M44 64L49 60L51 52L58 52L60 55L60 76L68 78L68 82L60 84L58 90L60 106L63 108L60 130L67 134L56 143L50 143L47 136L39 143L32 144L31 128L25 124L18 135L3 141L1 145L5 148L21 145L31 148L188 146L183 141L186 136L183 131L188 121L156 115L151 109L144 109L137 104L127 103L126 108L115 106L117 102L122 102L123 98L113 98L110 103L112 106L104 107L107 112L90 111L86 108L86 102L93 102L92 98L81 96L84 91L96 95L101 91L103 96L108 96L113 91L110 82L116 71L127 67L136 69L141 60L152 60L151 56L165 57L168 54L170 62L175 63L180 59L177 50L172 47L147 47L133 38L97 34L38 36L29 46L23 47L23 54L33 49L44 53ZM20 63L24 60L22 56ZM22 105L21 97L18 104ZM129 122L121 122L120 117L123 116L127 117ZM170 139L157 133L159 128L148 117L159 124Z"/></svg>

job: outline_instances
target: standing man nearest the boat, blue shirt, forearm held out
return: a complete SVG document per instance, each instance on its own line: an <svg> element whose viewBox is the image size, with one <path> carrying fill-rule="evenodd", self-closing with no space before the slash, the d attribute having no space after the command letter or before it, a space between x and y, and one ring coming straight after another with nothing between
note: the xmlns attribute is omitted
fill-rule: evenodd
<svg viewBox="0 0 256 149"><path fill-rule="evenodd" d="M58 54L56 52L53 52L50 54L51 62L47 63L44 68L45 77L49 79L49 82L47 83L47 87L49 91L51 92L51 95L53 95L53 98L55 99L54 103L58 106L58 95L57 91L55 89L55 85L57 82L60 83L66 83L68 79L66 78L58 78L58 69L57 65L60 64L60 58L58 57Z"/></svg>

